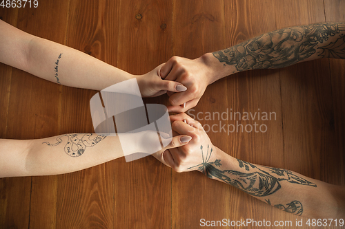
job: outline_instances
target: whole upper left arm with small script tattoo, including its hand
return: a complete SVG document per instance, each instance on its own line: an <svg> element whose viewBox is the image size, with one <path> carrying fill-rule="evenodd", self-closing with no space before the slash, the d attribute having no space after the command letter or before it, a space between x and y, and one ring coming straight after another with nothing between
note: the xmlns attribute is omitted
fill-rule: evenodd
<svg viewBox="0 0 345 229"><path fill-rule="evenodd" d="M70 87L101 90L137 78L144 97L159 96L166 90L186 90L181 83L161 80L160 66L147 74L135 76L71 47L32 36L1 20L0 62Z"/></svg>

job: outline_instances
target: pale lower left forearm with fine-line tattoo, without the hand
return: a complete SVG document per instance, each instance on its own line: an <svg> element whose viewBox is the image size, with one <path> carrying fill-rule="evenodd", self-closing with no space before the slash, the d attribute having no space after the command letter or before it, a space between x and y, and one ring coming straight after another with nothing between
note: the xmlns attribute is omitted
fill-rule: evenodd
<svg viewBox="0 0 345 229"><path fill-rule="evenodd" d="M118 136L73 133L28 141L23 173L15 176L70 173L124 155Z"/></svg>

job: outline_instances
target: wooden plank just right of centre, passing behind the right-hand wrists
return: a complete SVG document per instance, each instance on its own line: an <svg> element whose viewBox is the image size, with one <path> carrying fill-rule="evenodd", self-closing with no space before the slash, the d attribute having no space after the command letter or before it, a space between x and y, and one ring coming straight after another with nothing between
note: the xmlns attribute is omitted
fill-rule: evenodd
<svg viewBox="0 0 345 229"><path fill-rule="evenodd" d="M224 1L173 1L173 54L197 58L206 52L224 49ZM206 112L224 112L228 103L225 96L227 79L209 85L190 116L199 116L210 140L229 152L227 133L213 133L210 127L228 124L227 120L205 120ZM207 190L207 191L206 191ZM217 193L217 194L216 194ZM200 219L221 220L230 215L229 186L207 179L199 172L172 171L172 228L198 228Z"/></svg>

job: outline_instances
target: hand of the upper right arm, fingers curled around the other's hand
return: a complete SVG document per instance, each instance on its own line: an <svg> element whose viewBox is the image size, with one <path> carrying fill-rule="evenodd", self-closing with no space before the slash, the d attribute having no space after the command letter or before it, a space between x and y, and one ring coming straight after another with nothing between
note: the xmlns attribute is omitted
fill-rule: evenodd
<svg viewBox="0 0 345 229"><path fill-rule="evenodd" d="M213 83L213 69L208 66L209 56L201 56L195 60L173 56L161 67L160 76L165 80L182 83L187 90L181 93L168 92L172 106L170 112L185 112L195 107L204 94L206 87ZM186 102L186 107L184 103Z"/></svg>

